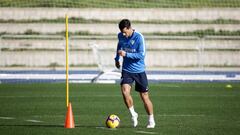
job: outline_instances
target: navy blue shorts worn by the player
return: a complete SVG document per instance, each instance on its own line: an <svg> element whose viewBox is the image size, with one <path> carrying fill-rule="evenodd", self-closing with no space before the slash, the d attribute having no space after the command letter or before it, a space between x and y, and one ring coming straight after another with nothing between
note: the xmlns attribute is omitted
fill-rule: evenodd
<svg viewBox="0 0 240 135"><path fill-rule="evenodd" d="M145 72L129 73L123 70L121 85L130 84L132 86L133 82L135 82L136 91L148 92L148 80Z"/></svg>

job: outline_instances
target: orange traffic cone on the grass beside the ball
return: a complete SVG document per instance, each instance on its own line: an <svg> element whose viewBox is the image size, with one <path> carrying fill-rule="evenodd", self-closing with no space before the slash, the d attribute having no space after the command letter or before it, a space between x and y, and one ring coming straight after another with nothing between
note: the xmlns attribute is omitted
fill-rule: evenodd
<svg viewBox="0 0 240 135"><path fill-rule="evenodd" d="M65 128L75 128L71 103L68 104L68 110L67 110L67 115L66 115L66 120L65 120L65 126L64 127Z"/></svg>

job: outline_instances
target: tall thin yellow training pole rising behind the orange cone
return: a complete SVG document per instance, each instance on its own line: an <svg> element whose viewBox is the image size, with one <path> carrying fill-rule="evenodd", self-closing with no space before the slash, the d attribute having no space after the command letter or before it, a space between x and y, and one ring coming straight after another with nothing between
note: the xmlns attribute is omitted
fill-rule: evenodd
<svg viewBox="0 0 240 135"><path fill-rule="evenodd" d="M68 85L68 15L66 14L66 104L69 103L69 85Z"/></svg>

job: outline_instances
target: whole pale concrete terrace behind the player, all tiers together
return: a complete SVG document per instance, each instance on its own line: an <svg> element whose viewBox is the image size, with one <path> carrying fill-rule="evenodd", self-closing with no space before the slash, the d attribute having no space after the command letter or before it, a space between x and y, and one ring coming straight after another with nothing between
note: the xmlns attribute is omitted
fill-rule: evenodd
<svg viewBox="0 0 240 135"><path fill-rule="evenodd" d="M0 8L0 19L43 19L69 17L85 19L154 21L154 20L240 20L240 8L203 8L203 9L61 9L61 8ZM117 17L116 17L117 16ZM108 18L107 18L108 17ZM151 32L188 32L189 30L239 30L238 24L133 24L146 33ZM0 30L9 33L21 33L27 30L39 33L63 32L64 23L1 23ZM100 38L86 36L85 38L70 37L70 65L92 66L96 61L89 48L89 43L100 45L107 49L103 59L112 65L114 49L117 44L117 23L70 24L69 30L100 33ZM108 33L109 32L109 33ZM111 35L110 38L109 34ZM26 35L23 35L27 37ZM48 35L49 36L49 35ZM49 36L51 38L51 36ZM171 39L161 36L146 36L148 55L146 62L149 67L239 67L239 38L236 39ZM63 39L5 39L1 36L0 66L4 67L55 67L65 65ZM71 50L72 49L72 50ZM205 49L205 50L204 50ZM110 50L110 51L109 51ZM14 55L13 55L14 54ZM29 57L31 56L31 57Z"/></svg>

